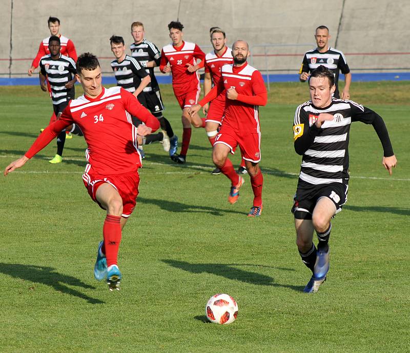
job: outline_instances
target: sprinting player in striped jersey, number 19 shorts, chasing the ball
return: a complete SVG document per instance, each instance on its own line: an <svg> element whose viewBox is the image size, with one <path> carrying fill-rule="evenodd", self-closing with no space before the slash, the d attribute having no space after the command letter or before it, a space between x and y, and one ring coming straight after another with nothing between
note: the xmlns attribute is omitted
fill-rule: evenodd
<svg viewBox="0 0 410 353"><path fill-rule="evenodd" d="M396 166L386 126L373 110L332 97L334 75L319 66L309 77L311 101L296 109L293 124L295 150L302 155L292 212L297 246L313 275L304 292L316 292L329 270L331 219L347 200L348 143L352 122L372 124L383 147L382 164L389 174ZM316 230L319 244L313 244Z"/></svg>

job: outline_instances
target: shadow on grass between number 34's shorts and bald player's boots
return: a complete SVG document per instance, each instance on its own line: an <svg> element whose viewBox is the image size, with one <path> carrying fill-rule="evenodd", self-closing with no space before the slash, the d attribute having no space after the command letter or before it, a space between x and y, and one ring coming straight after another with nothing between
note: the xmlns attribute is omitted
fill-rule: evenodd
<svg viewBox="0 0 410 353"><path fill-rule="evenodd" d="M141 198L141 197L138 197L138 203L156 205L160 207L161 209L170 211L170 212L210 213L212 215L218 215L218 216L224 215L225 213L245 214L244 212L222 209L222 208L200 206L200 205L187 205L187 204L183 204L183 203L176 202L176 201L146 199L146 198Z"/></svg>

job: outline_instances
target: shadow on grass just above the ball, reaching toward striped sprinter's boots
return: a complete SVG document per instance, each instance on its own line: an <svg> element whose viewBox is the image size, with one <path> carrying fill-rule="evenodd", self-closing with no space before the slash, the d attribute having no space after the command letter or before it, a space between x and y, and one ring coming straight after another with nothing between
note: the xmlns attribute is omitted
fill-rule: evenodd
<svg viewBox="0 0 410 353"><path fill-rule="evenodd" d="M161 260L163 263L166 263L172 267L182 269L184 271L188 271L191 273L211 273L216 274L217 276L221 276L227 278L229 280L236 280L241 281L244 283L251 283L255 285L262 285L262 286L274 286L274 287L285 287L290 288L296 291L302 291L304 287L302 286L292 286L292 285L284 285L274 283L274 279L270 276L265 276L264 274L260 274L257 272L245 271L233 266L256 266L253 264L191 264L186 261L177 261L171 259L164 259ZM286 270L286 271L294 271L292 268L283 268L283 267L272 267L279 270Z"/></svg>

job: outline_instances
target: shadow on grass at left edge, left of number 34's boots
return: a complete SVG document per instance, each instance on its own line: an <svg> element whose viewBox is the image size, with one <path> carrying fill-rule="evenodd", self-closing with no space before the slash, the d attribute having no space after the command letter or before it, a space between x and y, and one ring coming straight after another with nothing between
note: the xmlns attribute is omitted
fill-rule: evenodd
<svg viewBox="0 0 410 353"><path fill-rule="evenodd" d="M53 287L58 292L69 294L70 296L84 299L91 304L103 304L99 299L94 299L86 296L78 290L68 287L77 286L87 289L95 289L87 283L81 282L78 278L67 276L55 271L55 268L36 266L36 265L22 265L22 264L6 264L0 262L0 272L7 274L13 278L19 278L25 281L46 284Z"/></svg>

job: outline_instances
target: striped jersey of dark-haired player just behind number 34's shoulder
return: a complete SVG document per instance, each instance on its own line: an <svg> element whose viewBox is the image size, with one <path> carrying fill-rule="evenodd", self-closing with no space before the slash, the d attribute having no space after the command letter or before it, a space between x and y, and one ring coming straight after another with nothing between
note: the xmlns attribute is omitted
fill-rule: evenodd
<svg viewBox="0 0 410 353"><path fill-rule="evenodd" d="M141 80L148 76L144 68L130 55L126 55L120 63L118 63L118 60L113 60L111 68L114 71L117 86L131 93L135 92Z"/></svg>

